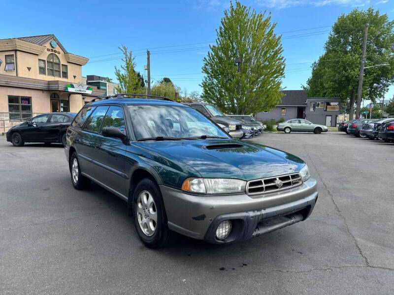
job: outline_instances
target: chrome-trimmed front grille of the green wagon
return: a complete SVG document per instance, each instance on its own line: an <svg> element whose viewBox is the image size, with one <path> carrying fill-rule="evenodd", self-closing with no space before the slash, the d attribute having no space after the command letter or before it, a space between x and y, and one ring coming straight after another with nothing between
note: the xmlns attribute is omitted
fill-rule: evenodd
<svg viewBox="0 0 394 295"><path fill-rule="evenodd" d="M279 184L279 186L277 185L277 183ZM282 183L282 185L280 185L280 183ZM301 184L302 179L298 173L276 177L267 177L249 181L246 184L246 193L248 195L266 194L289 189Z"/></svg>

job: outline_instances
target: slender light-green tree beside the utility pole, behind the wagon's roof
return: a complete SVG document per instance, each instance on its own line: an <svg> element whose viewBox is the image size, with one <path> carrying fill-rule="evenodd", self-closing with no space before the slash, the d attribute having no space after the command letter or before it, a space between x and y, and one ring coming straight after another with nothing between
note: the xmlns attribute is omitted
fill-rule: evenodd
<svg viewBox="0 0 394 295"><path fill-rule="evenodd" d="M122 51L124 57L120 69L115 66L115 75L119 82L119 86L116 90L119 93L145 93L145 89L143 89L141 84L143 78L134 70L135 61L131 51L128 51L125 45L122 45L119 49Z"/></svg>

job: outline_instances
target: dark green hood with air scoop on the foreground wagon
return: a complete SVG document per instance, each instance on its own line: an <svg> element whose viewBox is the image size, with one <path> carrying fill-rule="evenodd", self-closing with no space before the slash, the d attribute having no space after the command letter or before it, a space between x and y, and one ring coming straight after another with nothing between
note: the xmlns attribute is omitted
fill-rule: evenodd
<svg viewBox="0 0 394 295"><path fill-rule="evenodd" d="M298 172L304 162L287 152L234 139L140 142L188 164L201 177L251 180Z"/></svg>

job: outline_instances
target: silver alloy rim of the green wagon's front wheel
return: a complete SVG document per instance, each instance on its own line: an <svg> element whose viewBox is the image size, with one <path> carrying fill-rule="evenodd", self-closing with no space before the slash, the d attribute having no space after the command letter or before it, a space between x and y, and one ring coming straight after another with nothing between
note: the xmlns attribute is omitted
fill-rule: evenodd
<svg viewBox="0 0 394 295"><path fill-rule="evenodd" d="M138 195L137 219L142 232L153 236L157 228L157 209L152 194L146 190Z"/></svg>

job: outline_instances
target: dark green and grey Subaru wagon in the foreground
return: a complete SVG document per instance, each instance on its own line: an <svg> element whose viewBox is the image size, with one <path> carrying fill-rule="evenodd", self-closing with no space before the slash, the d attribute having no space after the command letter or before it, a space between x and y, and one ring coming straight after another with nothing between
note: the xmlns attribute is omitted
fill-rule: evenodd
<svg viewBox="0 0 394 295"><path fill-rule="evenodd" d="M71 182L93 180L128 204L151 248L172 231L215 244L305 220L316 180L287 152L231 138L197 110L130 94L86 104L67 129Z"/></svg>

